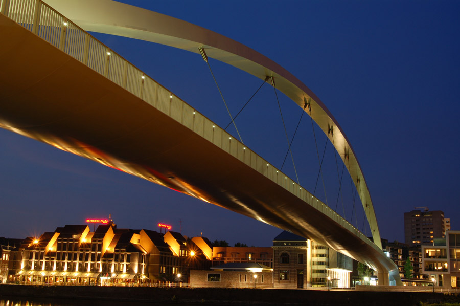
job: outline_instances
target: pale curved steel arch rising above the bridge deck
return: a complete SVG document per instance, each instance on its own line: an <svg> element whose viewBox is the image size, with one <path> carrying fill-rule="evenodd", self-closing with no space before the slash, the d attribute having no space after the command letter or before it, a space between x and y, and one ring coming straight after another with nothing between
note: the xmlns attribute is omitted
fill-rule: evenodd
<svg viewBox="0 0 460 306"><path fill-rule="evenodd" d="M63 15L86 31L125 36L160 43L194 53L204 48L214 59L233 65L262 80L273 77L277 89L304 108L335 146L359 191L374 243L382 249L371 195L353 148L337 120L323 102L300 80L279 64L218 33L177 18L112 0L48 0ZM110 13L107 13L110 12ZM333 133L329 133L332 130ZM346 159L349 159L346 161Z"/></svg>

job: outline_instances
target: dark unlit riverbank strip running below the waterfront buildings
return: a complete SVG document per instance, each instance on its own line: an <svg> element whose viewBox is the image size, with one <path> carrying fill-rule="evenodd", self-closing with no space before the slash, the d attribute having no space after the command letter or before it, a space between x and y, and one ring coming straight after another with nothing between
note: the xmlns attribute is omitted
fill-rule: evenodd
<svg viewBox="0 0 460 306"><path fill-rule="evenodd" d="M0 285L0 297L58 298L190 305L420 305L460 303L459 294L236 288Z"/></svg>

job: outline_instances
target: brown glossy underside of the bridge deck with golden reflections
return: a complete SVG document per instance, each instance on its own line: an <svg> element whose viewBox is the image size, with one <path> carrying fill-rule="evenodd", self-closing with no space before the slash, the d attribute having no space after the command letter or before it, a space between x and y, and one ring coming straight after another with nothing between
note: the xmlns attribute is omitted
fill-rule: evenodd
<svg viewBox="0 0 460 306"><path fill-rule="evenodd" d="M381 273L398 273L325 214L2 14L0 36L0 127L314 239L384 283Z"/></svg>

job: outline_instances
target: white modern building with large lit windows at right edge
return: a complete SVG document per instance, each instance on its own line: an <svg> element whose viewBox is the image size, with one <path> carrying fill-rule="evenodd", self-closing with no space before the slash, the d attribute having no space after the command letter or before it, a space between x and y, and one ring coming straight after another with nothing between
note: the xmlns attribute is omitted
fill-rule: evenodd
<svg viewBox="0 0 460 306"><path fill-rule="evenodd" d="M435 286L460 287L460 231L447 231L446 237L433 239L422 246L423 273Z"/></svg>

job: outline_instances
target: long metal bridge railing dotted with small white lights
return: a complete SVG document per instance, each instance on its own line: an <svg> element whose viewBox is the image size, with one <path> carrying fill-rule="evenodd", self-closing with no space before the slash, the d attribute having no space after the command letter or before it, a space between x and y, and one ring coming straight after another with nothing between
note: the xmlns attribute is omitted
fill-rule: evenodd
<svg viewBox="0 0 460 306"><path fill-rule="evenodd" d="M345 218L126 59L41 0L0 0L0 13L187 126L380 250ZM261 220L263 221L263 220Z"/></svg>

